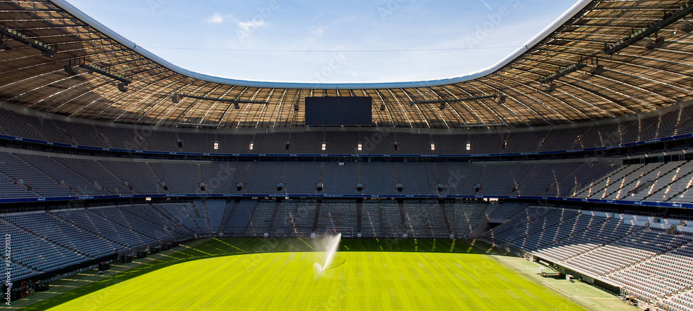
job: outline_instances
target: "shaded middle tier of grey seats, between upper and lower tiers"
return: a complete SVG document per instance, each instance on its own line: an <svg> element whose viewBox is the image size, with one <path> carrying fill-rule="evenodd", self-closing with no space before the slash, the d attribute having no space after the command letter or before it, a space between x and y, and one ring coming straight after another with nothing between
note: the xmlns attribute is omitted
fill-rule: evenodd
<svg viewBox="0 0 693 311"><path fill-rule="evenodd" d="M437 185L441 184L446 187L444 194L453 195L568 196L576 185L587 184L605 171L617 167L615 160L561 160L562 163L533 161L519 164L528 171L507 173L513 162L412 163L413 169L410 169L409 164L407 169L403 169L404 164L387 162L344 165L334 162L298 162L288 165L282 162L106 159L21 149L6 150L12 152L0 151L0 157L6 160L5 165L0 167L0 173L8 176L10 182L14 180L15 187L6 182L6 187L12 190L3 193L2 198L226 194L237 193L234 186L239 182L244 185L241 194L437 196L441 194ZM225 178L218 178L220 173ZM360 182L358 176L361 176ZM33 189L30 194L17 187L16 182L20 180L23 185ZM681 184L683 180L678 182ZM283 189L277 191L280 183L283 184ZM318 183L324 185L322 191L317 191ZM358 183L363 185L360 192L356 189ZM404 186L401 193L396 189L397 184ZM667 187L683 187L683 184L674 184ZM204 191L202 185L205 186ZM480 191L476 191L476 185L480 185ZM656 190L659 191L660 188ZM678 201L677 198L671 199L673 202Z"/></svg>

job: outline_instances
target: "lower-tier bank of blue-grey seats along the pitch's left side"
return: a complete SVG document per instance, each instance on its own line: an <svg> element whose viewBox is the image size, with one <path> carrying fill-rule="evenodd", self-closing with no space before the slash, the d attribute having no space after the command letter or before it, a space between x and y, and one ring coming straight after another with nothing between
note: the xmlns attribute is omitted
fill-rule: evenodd
<svg viewBox="0 0 693 311"><path fill-rule="evenodd" d="M20 280L191 236L164 217L148 205L28 211L0 214L0 228L22 245L12 249L10 267L12 278Z"/></svg>

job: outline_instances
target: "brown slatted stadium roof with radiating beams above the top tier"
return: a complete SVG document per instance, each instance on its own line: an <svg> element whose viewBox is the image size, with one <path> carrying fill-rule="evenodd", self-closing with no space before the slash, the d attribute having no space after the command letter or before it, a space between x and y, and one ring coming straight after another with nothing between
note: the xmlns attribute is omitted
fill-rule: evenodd
<svg viewBox="0 0 693 311"><path fill-rule="evenodd" d="M0 50L0 100L106 122L266 128L304 126L306 96L371 96L376 126L570 124L690 99L692 12L693 1L583 0L478 73L424 82L300 84L190 72L64 0L0 1L3 42L13 46Z"/></svg>

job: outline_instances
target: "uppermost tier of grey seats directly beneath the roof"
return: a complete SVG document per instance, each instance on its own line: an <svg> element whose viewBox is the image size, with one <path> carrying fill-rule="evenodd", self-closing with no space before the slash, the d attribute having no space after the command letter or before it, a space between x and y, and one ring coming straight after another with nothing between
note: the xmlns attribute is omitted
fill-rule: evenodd
<svg viewBox="0 0 693 311"><path fill-rule="evenodd" d="M691 103L672 106L663 113L640 113L617 118L611 122L582 124L578 127L561 126L549 129L514 129L512 132L484 133L468 131L463 134L432 134L422 139L418 134L396 133L400 148L394 150L395 135L380 134L377 131L326 131L324 133L304 133L289 136L287 133L223 133L220 131L191 131L186 129L155 129L147 126L120 126L85 123L82 120L70 120L42 113L32 115L15 112L16 107L1 104L0 109L6 122L3 122L3 135L18 138L29 138L47 142L78 144L85 147L125 149L140 151L166 151L191 153L388 153L388 154L495 154L522 153L541 151L564 151L590 149L596 147L613 147L633 142L647 142L659 138L693 133ZM26 112L24 112L26 113ZM43 120L48 120L44 122ZM43 124L49 129L32 130ZM393 130L394 131L394 130ZM44 137L41 133L51 133ZM368 138L378 135L377 144L369 143L365 149L356 149L359 137ZM291 138L289 138L291 137ZM177 141L181 140L182 147ZM292 141L295 140L295 141ZM364 140L364 139L361 139ZM213 142L219 142L220 148L213 149ZM249 144L253 142L253 149ZM290 149L286 149L290 142ZM328 150L321 150L321 142L326 142ZM430 149L430 142L435 142L436 150ZM466 149L466 142L471 148ZM505 142L505 144L504 144ZM364 142L362 142L364 144ZM505 145L505 148L504 148Z"/></svg>

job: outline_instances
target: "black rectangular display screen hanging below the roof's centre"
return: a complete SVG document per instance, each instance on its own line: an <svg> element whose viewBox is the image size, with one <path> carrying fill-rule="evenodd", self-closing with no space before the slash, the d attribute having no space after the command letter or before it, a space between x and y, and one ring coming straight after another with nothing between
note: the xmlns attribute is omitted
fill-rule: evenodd
<svg viewBox="0 0 693 311"><path fill-rule="evenodd" d="M306 97L308 126L369 126L373 97Z"/></svg>

